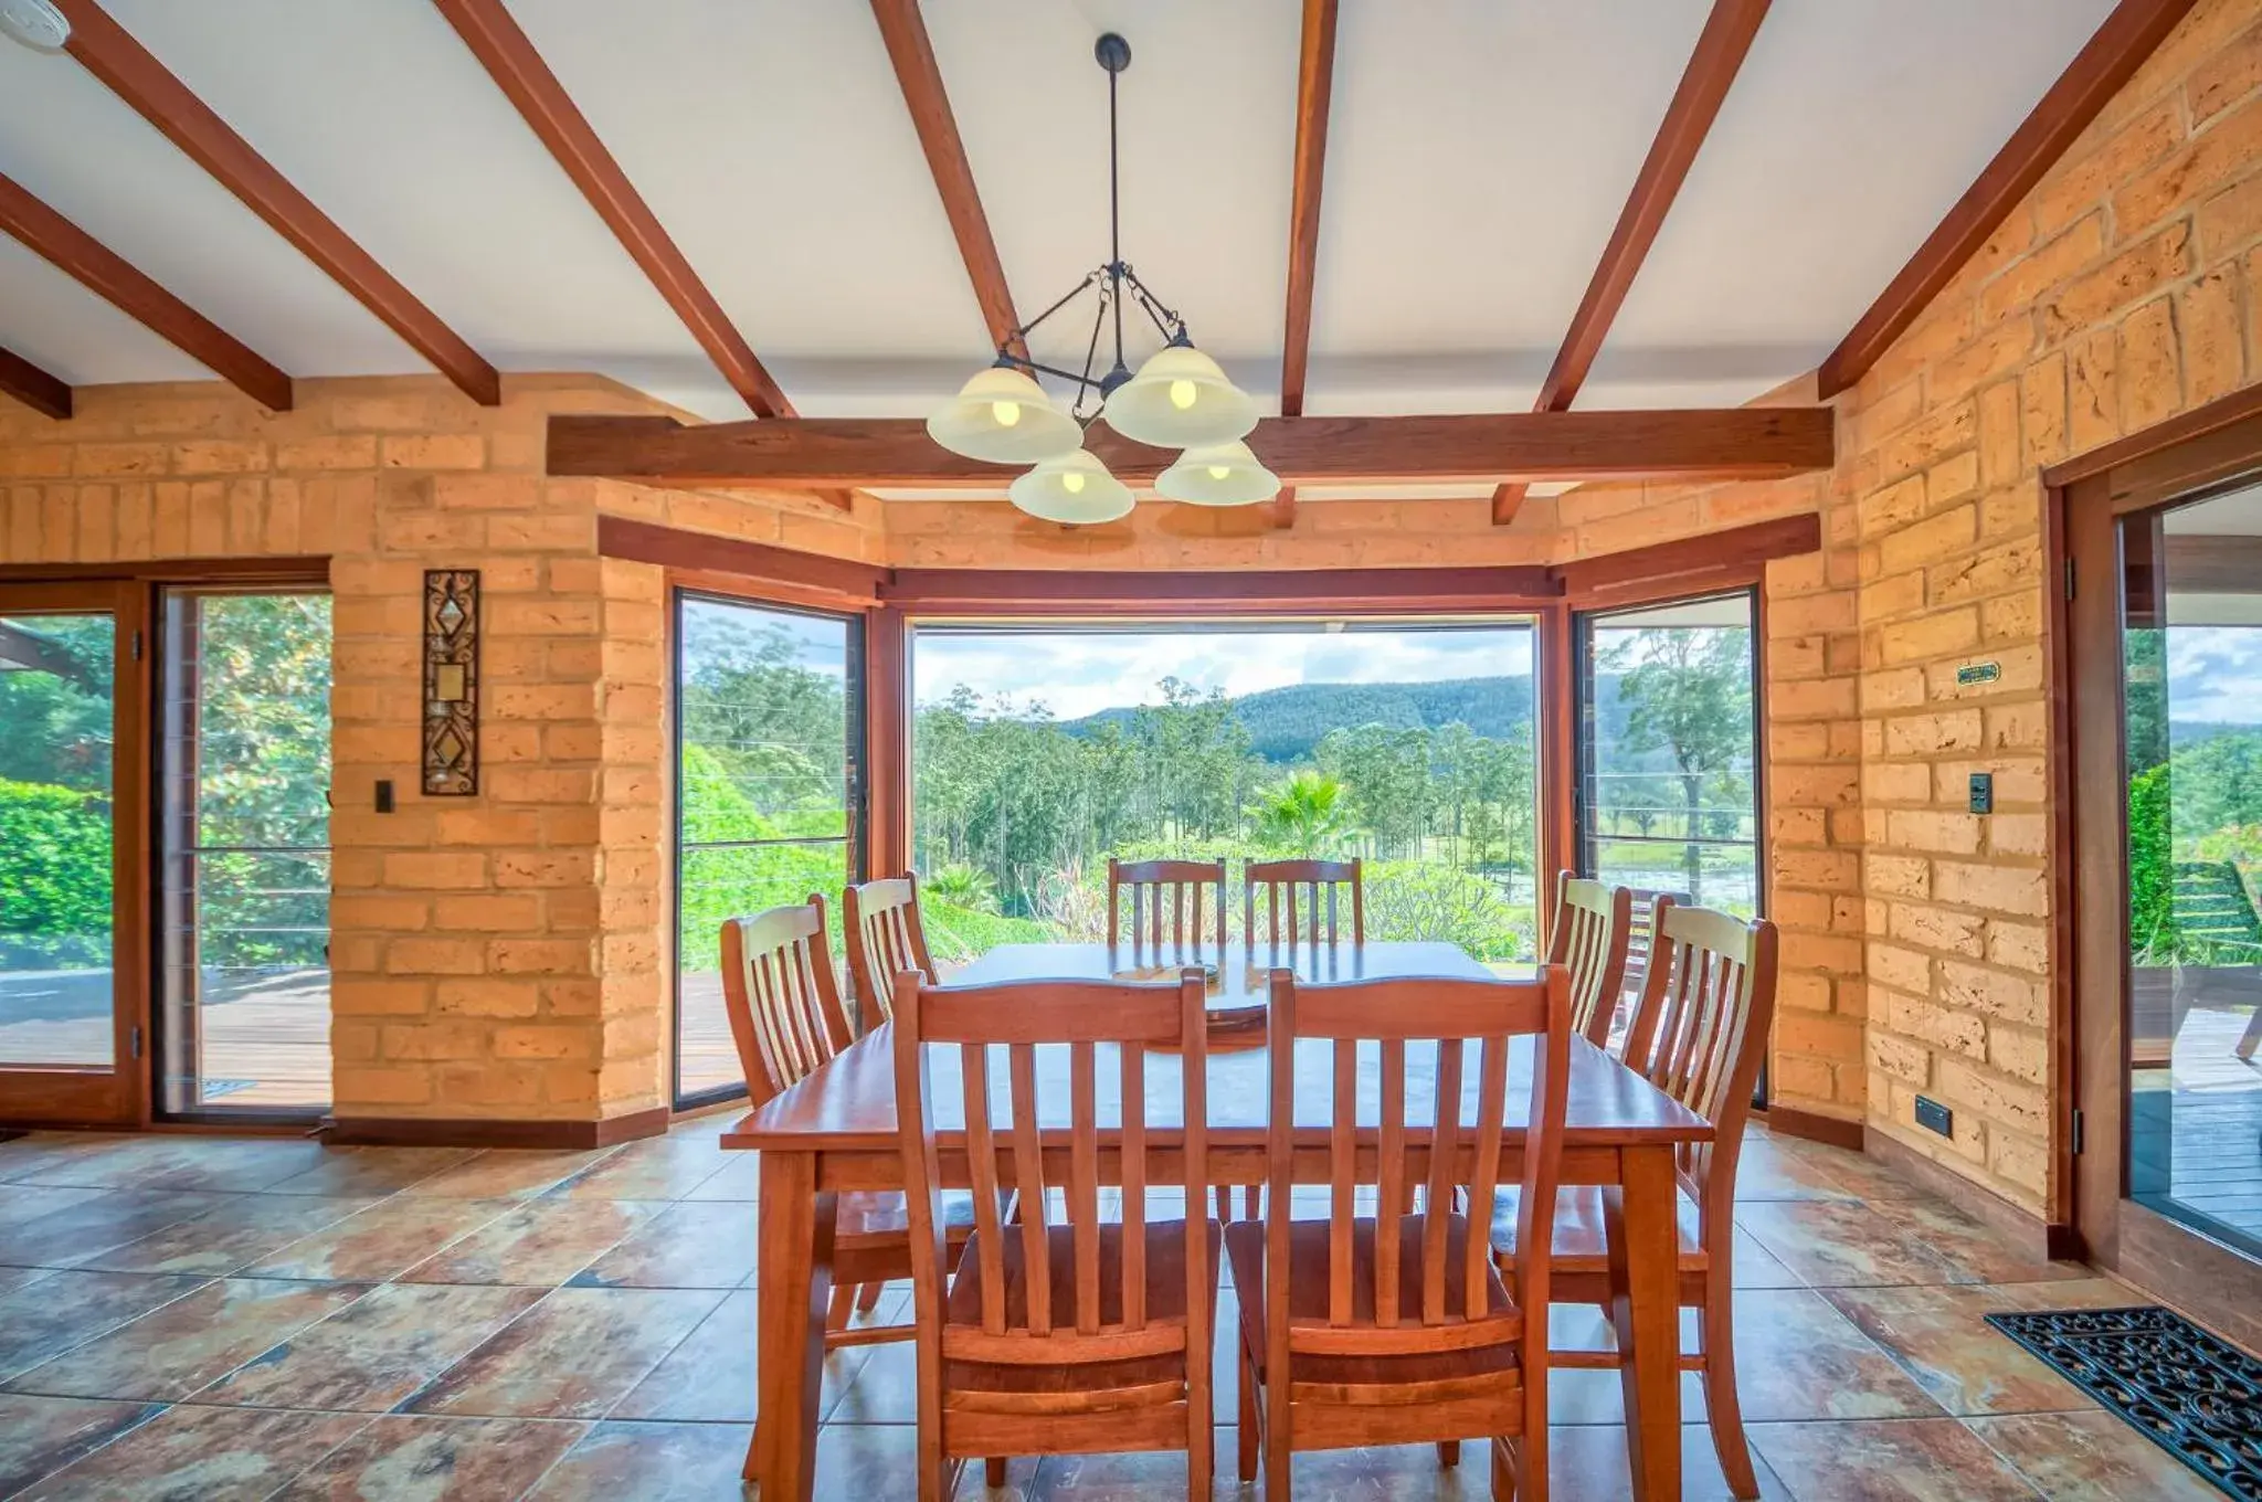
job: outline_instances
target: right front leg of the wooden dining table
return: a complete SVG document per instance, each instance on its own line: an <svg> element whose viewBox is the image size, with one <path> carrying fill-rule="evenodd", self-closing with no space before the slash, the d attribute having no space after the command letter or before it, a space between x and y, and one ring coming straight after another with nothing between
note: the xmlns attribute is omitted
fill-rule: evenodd
<svg viewBox="0 0 2262 1502"><path fill-rule="evenodd" d="M1626 1147L1620 1188L1604 1190L1611 1323L1626 1396L1633 1495L1681 1497L1681 1310L1674 1149Z"/></svg>

